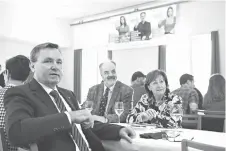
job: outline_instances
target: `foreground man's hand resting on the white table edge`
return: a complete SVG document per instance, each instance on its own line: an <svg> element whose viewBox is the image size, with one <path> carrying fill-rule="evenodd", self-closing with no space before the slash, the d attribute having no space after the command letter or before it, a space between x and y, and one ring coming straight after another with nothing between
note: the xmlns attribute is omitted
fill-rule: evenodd
<svg viewBox="0 0 226 151"><path fill-rule="evenodd" d="M132 143L132 138L136 136L136 133L131 127L124 127L120 129L119 136L122 139L127 140L129 143Z"/></svg>

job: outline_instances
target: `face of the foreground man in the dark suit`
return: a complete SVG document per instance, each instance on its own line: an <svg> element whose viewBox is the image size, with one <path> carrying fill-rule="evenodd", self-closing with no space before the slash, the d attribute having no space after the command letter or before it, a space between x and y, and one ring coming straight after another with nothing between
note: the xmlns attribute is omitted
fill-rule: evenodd
<svg viewBox="0 0 226 151"><path fill-rule="evenodd" d="M37 56L37 61L32 65L35 79L50 88L54 88L63 75L62 62L62 54L58 49L46 48L41 50Z"/></svg>

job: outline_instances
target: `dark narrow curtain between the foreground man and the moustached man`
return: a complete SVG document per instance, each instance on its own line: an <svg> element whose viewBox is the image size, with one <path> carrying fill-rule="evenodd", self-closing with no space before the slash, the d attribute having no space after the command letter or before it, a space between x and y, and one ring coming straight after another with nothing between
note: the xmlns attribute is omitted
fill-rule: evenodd
<svg viewBox="0 0 226 151"><path fill-rule="evenodd" d="M74 93L81 103L81 83L82 83L82 49L74 51Z"/></svg>

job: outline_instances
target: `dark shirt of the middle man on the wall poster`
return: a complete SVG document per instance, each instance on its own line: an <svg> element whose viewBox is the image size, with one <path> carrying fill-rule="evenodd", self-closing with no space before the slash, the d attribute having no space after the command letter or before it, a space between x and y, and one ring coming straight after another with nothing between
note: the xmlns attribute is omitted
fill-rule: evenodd
<svg viewBox="0 0 226 151"><path fill-rule="evenodd" d="M145 21L144 24L140 22L137 28L134 27L134 31L139 31L141 39L143 36L146 36L145 40L149 40L149 36L151 35L151 23Z"/></svg>

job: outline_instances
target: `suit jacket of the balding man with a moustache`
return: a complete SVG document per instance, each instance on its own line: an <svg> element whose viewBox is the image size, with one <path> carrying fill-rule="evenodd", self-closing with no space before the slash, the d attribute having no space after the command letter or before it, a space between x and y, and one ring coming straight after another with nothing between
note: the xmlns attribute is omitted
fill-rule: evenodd
<svg viewBox="0 0 226 151"><path fill-rule="evenodd" d="M99 115L99 107L101 97L104 93L104 83L95 85L89 89L87 101L93 101L92 114ZM113 89L111 99L107 108L106 118L108 122L118 122L118 116L115 114L114 105L116 101L122 101L124 104L124 112L120 116L120 122L126 122L126 117L132 109L133 89L120 81L117 81Z"/></svg>

